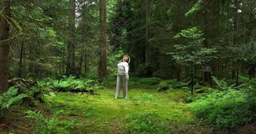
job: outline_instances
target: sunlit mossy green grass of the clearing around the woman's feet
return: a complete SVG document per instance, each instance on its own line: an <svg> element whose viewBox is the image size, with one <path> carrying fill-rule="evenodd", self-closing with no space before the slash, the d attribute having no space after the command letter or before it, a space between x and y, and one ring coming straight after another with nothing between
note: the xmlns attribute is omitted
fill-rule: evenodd
<svg viewBox="0 0 256 134"><path fill-rule="evenodd" d="M189 95L185 90L157 92L156 88L131 88L127 100L115 99L113 88L97 92L97 95L59 92L56 96L49 97L48 109L52 113L63 110L61 117L75 117L84 122L83 130L80 131L82 133L127 133L129 119L143 113L154 113L162 121L172 123L172 127L173 123L186 127L185 124L195 122L194 115L183 100ZM168 129L184 130L172 127Z"/></svg>

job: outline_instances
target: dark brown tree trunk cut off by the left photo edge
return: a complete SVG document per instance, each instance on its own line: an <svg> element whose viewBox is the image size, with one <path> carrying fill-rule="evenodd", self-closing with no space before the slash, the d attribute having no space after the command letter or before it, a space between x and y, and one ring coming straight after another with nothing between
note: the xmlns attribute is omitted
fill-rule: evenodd
<svg viewBox="0 0 256 134"><path fill-rule="evenodd" d="M0 1L0 93L8 90L8 55L9 23L6 19L11 17L10 1ZM4 16L4 17L3 17Z"/></svg>

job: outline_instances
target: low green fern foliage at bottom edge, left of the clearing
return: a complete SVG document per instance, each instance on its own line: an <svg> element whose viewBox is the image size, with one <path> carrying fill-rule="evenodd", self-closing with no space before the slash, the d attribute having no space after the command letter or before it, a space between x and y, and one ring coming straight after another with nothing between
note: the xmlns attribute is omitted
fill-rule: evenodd
<svg viewBox="0 0 256 134"><path fill-rule="evenodd" d="M25 118L35 119L40 122L36 130L36 133L40 134L70 133L83 126L77 119L72 119L71 121L59 121L58 116L61 113L63 113L63 111L55 113L51 119L45 119L40 111L26 111Z"/></svg>

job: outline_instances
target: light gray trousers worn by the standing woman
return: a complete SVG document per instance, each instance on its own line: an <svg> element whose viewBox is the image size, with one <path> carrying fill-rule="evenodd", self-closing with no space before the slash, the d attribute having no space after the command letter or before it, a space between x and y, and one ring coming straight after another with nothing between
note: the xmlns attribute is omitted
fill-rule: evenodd
<svg viewBox="0 0 256 134"><path fill-rule="evenodd" d="M116 97L119 97L122 85L123 85L123 96L127 97L128 80L129 80L129 75L117 75Z"/></svg>

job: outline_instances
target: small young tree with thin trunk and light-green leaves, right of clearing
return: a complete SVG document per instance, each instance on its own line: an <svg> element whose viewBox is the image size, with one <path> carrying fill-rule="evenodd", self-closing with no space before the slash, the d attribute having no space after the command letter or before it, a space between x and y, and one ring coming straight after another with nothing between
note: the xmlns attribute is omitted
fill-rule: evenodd
<svg viewBox="0 0 256 134"><path fill-rule="evenodd" d="M185 40L184 44L174 45L176 52L171 52L174 60L178 62L184 62L190 67L190 77L189 82L191 86L191 94L193 94L193 88L195 85L194 80L194 66L201 65L205 66L206 62L209 62L215 56L211 54L215 53L214 48L206 48L203 46L203 33L199 28L192 27L189 29L183 29L179 34L174 36L174 38L183 38Z"/></svg>

